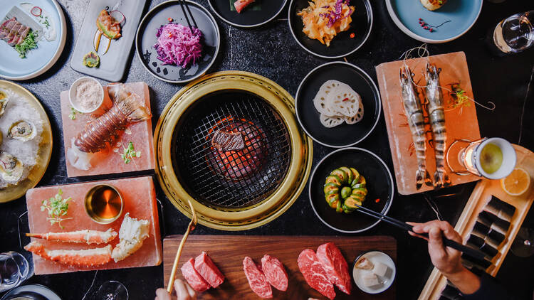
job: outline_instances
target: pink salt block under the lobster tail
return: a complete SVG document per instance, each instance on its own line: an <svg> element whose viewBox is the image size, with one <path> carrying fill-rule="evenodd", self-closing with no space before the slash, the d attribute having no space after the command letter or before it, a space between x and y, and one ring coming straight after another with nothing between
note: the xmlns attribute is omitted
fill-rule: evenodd
<svg viewBox="0 0 534 300"><path fill-rule="evenodd" d="M125 85L137 95L140 95L150 109L150 92L145 82L131 82ZM104 106L111 107L112 102L108 94L108 86L104 86L104 95ZM61 120L63 121L63 146L65 146L65 157L68 158L67 151L72 146L72 140L83 130L85 124L96 117L100 117L100 114L82 114L78 112L75 114L75 119L70 119L69 114L71 114L72 110L68 101L68 91L61 92L60 99ZM87 171L75 168L66 159L68 177L145 171L155 168L152 119L130 124L125 131L117 132L117 134L119 134L120 138L117 139L115 145L108 146L95 153L95 157L90 161L92 167ZM141 152L141 157L136 157L129 164L125 164L120 154L123 153L123 147L127 147L130 141L132 141L135 151Z"/></svg>

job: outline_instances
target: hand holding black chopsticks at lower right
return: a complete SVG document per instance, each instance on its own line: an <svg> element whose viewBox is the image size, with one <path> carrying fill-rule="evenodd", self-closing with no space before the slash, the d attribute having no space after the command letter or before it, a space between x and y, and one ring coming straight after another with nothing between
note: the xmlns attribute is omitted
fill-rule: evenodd
<svg viewBox="0 0 534 300"><path fill-rule="evenodd" d="M461 252L454 250L451 247L446 247L443 242L443 236L454 242L462 243L461 236L454 228L447 222L434 220L426 223L408 223L413 225L413 231L410 235L424 238L429 242L429 255L432 264L439 269L446 277L464 271L461 264ZM428 238L421 235L427 233Z"/></svg>

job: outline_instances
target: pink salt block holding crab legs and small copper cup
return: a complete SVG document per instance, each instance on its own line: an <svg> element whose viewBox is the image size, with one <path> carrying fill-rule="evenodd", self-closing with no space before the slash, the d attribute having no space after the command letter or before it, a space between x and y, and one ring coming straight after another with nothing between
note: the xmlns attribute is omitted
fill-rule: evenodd
<svg viewBox="0 0 534 300"><path fill-rule="evenodd" d="M84 208L85 194L99 183L107 183L115 186L120 191L122 199L124 200L124 207L122 208L122 215L113 223L102 225L95 223ZM68 213L61 225L65 227L63 230L56 224L46 220L47 213L41 211L41 202L45 199L54 197L58 190L63 191L63 198L72 197L68 206ZM162 242L159 235L159 218L156 205L156 192L152 177L136 177L124 178L107 181L91 181L85 183L67 184L63 186L46 186L43 188L32 188L26 193L26 205L28 206L28 225L30 231L33 233L46 232L66 232L74 230L108 230L113 228L119 232L122 219L126 213L130 213L131 218L138 220L150 221L150 236L143 242L140 250L137 250L133 255L127 257L120 262L108 262L100 267L68 267L63 264L57 264L48 260L42 259L37 255L33 255L33 264L35 264L35 274L56 274L76 271L90 271L94 269L124 269L131 267L149 267L157 266L162 262ZM63 242L50 242L47 240L39 240L48 249L51 250L83 250L90 248L105 247L105 245L85 245ZM119 238L110 242L112 247L119 242Z"/></svg>

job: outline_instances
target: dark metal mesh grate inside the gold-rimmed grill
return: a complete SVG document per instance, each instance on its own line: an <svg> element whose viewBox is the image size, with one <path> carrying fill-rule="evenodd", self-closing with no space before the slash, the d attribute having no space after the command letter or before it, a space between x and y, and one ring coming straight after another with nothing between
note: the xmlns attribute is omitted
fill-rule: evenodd
<svg viewBox="0 0 534 300"><path fill-rule="evenodd" d="M229 156L213 151L211 138L216 129L248 127L253 139L237 155L231 151L238 171L224 176L229 164L214 163ZM174 168L187 193L214 208L244 208L265 199L286 176L291 159L290 138L281 117L268 103L244 92L225 92L197 100L174 129ZM243 156L261 151L253 161L256 171L242 171L252 160ZM214 157L219 156L219 157ZM239 157L237 157L239 156ZM253 166L254 167L254 166Z"/></svg>

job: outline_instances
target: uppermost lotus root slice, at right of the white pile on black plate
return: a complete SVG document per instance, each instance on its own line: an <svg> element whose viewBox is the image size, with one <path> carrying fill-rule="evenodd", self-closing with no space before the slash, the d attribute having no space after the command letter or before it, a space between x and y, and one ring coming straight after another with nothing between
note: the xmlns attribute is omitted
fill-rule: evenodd
<svg viewBox="0 0 534 300"><path fill-rule="evenodd" d="M343 82L338 82L327 97L328 107L345 117L354 117L357 114L361 100L360 95Z"/></svg>

